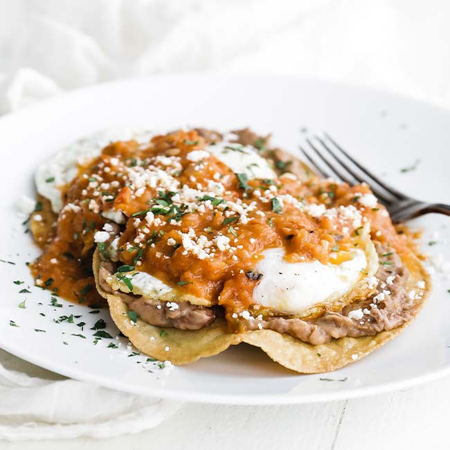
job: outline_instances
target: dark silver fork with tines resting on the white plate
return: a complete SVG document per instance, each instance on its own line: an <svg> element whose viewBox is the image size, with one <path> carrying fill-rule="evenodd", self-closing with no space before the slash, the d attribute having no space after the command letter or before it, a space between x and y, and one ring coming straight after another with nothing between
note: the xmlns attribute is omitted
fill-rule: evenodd
<svg viewBox="0 0 450 450"><path fill-rule="evenodd" d="M405 222L413 217L428 213L450 215L450 205L426 203L412 199L397 189L388 186L379 177L356 161L341 145L328 134L324 137L314 136L314 142L307 138L309 151L300 146L305 158L312 167L325 178L334 178L350 185L367 183L378 201L386 206L393 222ZM312 154L315 157L311 156ZM318 160L321 163L318 163Z"/></svg>

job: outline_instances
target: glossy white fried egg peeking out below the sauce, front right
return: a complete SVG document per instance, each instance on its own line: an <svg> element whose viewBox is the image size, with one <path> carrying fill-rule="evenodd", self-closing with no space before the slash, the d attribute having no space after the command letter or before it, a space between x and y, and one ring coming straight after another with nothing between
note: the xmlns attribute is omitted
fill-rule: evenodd
<svg viewBox="0 0 450 450"><path fill-rule="evenodd" d="M345 294L362 276L368 262L366 253L354 249L351 258L341 264L321 262L286 262L284 249L262 252L264 259L255 271L262 279L253 289L255 303L276 311L295 314L322 303L333 296Z"/></svg>

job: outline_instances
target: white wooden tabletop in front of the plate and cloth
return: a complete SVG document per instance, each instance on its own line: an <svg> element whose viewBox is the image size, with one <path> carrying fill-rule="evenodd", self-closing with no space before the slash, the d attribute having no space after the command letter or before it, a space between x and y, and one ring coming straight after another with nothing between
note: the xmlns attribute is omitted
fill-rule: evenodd
<svg viewBox="0 0 450 450"><path fill-rule="evenodd" d="M185 404L163 424L136 435L0 442L0 450L448 449L449 381L322 404Z"/></svg>

